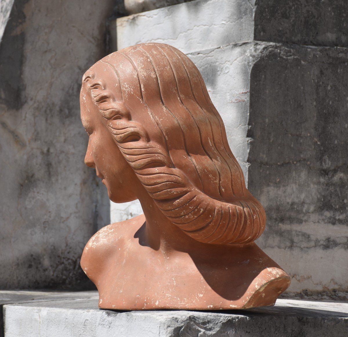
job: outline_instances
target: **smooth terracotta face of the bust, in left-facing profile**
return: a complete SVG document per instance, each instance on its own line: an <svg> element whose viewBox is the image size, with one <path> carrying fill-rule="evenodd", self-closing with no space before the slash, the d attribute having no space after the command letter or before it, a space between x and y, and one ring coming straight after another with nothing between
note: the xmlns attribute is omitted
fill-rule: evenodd
<svg viewBox="0 0 348 337"><path fill-rule="evenodd" d="M93 72L97 76L103 71L102 64L95 64ZM103 80L105 80L105 76ZM107 80L107 78L106 78ZM105 84L104 84L105 85ZM102 183L108 189L111 201L123 203L137 199L136 190L140 187L135 174L108 131L104 118L94 103L92 97L98 96L100 87L91 88L84 81L80 93L81 121L88 136L88 147L85 156L85 164L96 170L96 174L102 179ZM98 99L103 100L102 95ZM113 90L113 100L122 103L119 90ZM104 104L105 111L108 109L108 102Z"/></svg>

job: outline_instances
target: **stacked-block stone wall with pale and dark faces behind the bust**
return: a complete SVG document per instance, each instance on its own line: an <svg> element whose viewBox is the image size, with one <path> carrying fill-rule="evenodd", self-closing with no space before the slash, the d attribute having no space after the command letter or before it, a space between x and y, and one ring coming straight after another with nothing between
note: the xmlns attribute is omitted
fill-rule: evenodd
<svg viewBox="0 0 348 337"><path fill-rule="evenodd" d="M266 209L258 244L292 276L291 296L347 299L347 17L339 0L196 0L111 31L114 50L165 42L196 63Z"/></svg>

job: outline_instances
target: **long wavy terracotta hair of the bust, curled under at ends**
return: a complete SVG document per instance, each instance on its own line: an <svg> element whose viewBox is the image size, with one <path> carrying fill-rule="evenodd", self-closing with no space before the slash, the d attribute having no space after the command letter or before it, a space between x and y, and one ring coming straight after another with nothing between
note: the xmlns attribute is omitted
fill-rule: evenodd
<svg viewBox="0 0 348 337"><path fill-rule="evenodd" d="M82 81L167 219L204 243L256 240L265 212L245 187L222 119L193 62L160 43L128 47L99 62L114 74L114 83L104 83L93 70ZM114 99L112 88L121 91L123 102Z"/></svg>

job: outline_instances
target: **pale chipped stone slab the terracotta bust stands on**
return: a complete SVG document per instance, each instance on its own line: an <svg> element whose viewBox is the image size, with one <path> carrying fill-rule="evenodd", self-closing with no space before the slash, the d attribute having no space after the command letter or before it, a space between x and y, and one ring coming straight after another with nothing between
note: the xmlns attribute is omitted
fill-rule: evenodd
<svg viewBox="0 0 348 337"><path fill-rule="evenodd" d="M240 311L110 311L98 298L6 305L6 337L347 336L348 304L277 300Z"/></svg>

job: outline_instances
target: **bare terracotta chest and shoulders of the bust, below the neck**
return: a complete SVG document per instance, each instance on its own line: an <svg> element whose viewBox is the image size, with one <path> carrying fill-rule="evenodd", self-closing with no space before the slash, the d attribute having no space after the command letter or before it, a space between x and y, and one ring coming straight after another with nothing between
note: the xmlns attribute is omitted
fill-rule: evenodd
<svg viewBox="0 0 348 337"><path fill-rule="evenodd" d="M143 226L144 217L137 218L140 221L104 227L86 245L81 265L97 285L101 308L228 309L272 305L262 296L267 291L263 289L258 294L260 289L268 285L268 291L279 292L288 284L284 271L253 243L237 249L219 247L211 250L209 257L201 252L163 253L139 244L136 235L127 235Z"/></svg>

